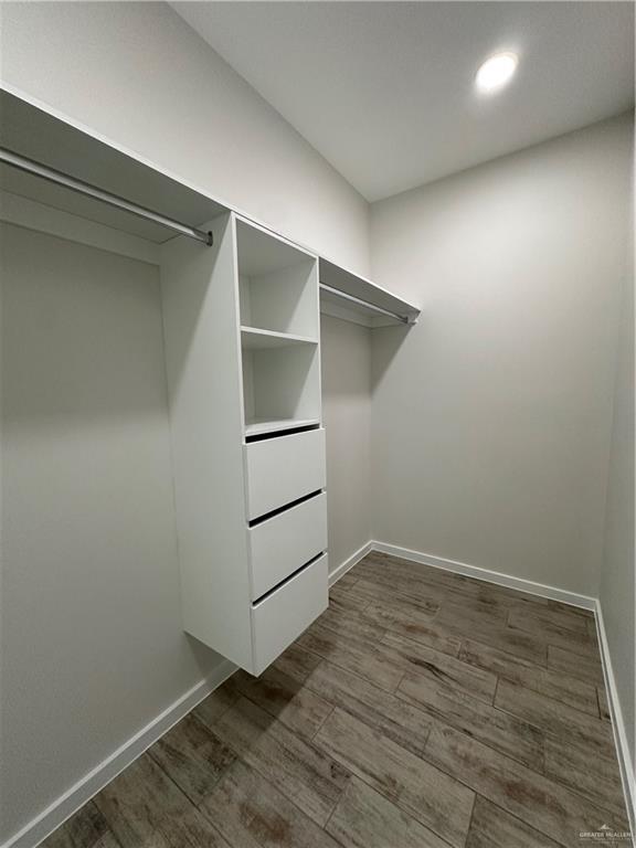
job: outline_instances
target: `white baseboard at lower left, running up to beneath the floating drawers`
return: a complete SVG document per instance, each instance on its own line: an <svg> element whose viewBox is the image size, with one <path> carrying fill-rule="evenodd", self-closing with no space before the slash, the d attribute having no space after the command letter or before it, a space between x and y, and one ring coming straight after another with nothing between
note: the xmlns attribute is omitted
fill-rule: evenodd
<svg viewBox="0 0 636 848"><path fill-rule="evenodd" d="M163 712L141 728L134 736L85 774L67 792L9 838L0 848L34 848L60 827L70 816L96 795L114 777L130 765L144 751L167 733L173 724L213 692L236 670L236 666L224 659L204 680L178 698Z"/></svg>

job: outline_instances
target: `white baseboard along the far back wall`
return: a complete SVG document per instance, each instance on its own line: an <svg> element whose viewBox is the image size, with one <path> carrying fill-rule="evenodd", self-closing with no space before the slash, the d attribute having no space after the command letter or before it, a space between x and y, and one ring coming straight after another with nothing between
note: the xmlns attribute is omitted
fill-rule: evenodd
<svg viewBox="0 0 636 848"><path fill-rule="evenodd" d="M589 595L579 595L575 592L568 592L556 586L548 586L544 583L536 583L532 580L523 577L513 577L510 574L501 574L499 571L488 571L477 565L468 565L466 562L456 562L455 560L445 560L442 556L433 556L430 553L420 551L410 551L407 548L400 548L396 544L386 544L385 542L371 542L371 549L380 553L389 553L392 556L401 556L403 560L421 562L424 565L431 565L434 569L452 571L455 574L464 574L466 577L484 580L486 583L496 583L507 589L516 589L519 592L526 592L529 595L539 595L548 597L551 601L560 601L562 604L580 606L583 610L596 610L596 598Z"/></svg>

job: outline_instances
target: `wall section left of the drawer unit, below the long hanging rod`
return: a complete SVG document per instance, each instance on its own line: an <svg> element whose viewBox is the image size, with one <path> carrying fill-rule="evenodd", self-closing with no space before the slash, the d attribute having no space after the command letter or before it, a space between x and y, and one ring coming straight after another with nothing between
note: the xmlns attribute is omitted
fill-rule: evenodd
<svg viewBox="0 0 636 848"><path fill-rule="evenodd" d="M157 266L0 226L1 842L219 658L181 630Z"/></svg>

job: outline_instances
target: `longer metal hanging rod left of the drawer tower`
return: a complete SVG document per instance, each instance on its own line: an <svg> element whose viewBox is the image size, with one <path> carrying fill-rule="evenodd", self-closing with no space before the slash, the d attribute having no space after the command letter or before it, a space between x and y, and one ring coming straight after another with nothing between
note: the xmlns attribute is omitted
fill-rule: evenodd
<svg viewBox="0 0 636 848"><path fill-rule="evenodd" d="M212 244L212 233L205 233L203 230L197 230L194 226L190 226L189 224L182 224L179 221L173 221L171 218L166 218L166 215L162 215L159 212L152 212L151 209L139 206L137 203L131 203L130 201L125 200L125 198L120 198L117 194L112 194L108 191L98 189L96 186L91 186L89 182L77 180L74 177L70 177L68 174L63 173L62 171L56 171L54 168L49 168L45 165L41 165L33 159L28 159L25 156L14 153L3 147L0 147L0 162L9 165L11 168L17 168L20 171L25 171L26 173L40 177L41 179L53 182L56 186L62 186L63 188L70 189L71 191L76 191L78 194L85 194L89 198L93 198L93 200L107 203L110 206L115 206L115 209L120 209L124 212L130 212L130 214L137 215L137 218L144 218L146 221L152 221L155 224L166 226L169 230L173 230L176 233L180 233L181 235L187 235L190 239L197 239L197 241L203 242L206 245Z"/></svg>

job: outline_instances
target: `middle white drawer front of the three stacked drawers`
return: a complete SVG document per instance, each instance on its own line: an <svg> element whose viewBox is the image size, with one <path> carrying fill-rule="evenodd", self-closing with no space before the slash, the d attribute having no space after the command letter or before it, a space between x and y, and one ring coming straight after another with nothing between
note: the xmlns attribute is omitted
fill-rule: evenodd
<svg viewBox="0 0 636 848"><path fill-rule="evenodd" d="M327 496L317 495L250 530L252 600L327 548Z"/></svg>

